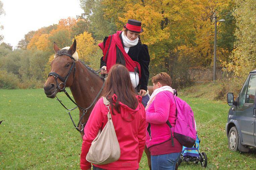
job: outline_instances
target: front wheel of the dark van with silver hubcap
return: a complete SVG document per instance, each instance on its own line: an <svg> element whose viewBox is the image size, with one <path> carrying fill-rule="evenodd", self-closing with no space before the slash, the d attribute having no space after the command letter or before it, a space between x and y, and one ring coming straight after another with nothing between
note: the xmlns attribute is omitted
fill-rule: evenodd
<svg viewBox="0 0 256 170"><path fill-rule="evenodd" d="M231 127L229 131L229 149L231 151L237 151L239 145L239 137L236 126Z"/></svg>

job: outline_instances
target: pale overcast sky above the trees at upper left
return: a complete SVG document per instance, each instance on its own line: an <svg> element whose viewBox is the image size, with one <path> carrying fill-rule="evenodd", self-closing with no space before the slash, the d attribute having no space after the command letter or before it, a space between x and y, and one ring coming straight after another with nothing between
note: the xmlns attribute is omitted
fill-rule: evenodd
<svg viewBox="0 0 256 170"><path fill-rule="evenodd" d="M1 0L5 16L1 15L0 33L4 42L17 46L24 35L43 26L57 24L59 19L83 13L79 0Z"/></svg>

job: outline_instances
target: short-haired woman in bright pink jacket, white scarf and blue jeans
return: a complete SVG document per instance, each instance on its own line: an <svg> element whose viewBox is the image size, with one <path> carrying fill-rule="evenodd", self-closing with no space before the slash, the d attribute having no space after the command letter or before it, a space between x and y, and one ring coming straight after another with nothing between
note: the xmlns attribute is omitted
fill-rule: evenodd
<svg viewBox="0 0 256 170"><path fill-rule="evenodd" d="M182 151L182 145L173 137L167 120L175 126L177 112L172 79L167 73L152 77L153 93L146 110L146 146L151 155L152 170L174 170ZM173 129L173 128L172 128ZM172 131L173 135L173 131Z"/></svg>

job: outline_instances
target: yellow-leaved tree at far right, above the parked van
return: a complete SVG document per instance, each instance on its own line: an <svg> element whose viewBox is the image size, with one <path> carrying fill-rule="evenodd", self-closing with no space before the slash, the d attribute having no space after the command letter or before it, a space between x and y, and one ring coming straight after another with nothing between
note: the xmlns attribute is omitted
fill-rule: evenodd
<svg viewBox="0 0 256 170"><path fill-rule="evenodd" d="M256 68L256 3L254 0L235 0L233 15L236 19L236 41L227 70L244 81L248 72Z"/></svg>

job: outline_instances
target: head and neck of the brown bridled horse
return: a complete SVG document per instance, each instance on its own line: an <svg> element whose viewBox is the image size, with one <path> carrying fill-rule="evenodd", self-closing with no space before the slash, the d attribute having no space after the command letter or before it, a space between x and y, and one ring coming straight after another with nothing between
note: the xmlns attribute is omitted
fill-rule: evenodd
<svg viewBox="0 0 256 170"><path fill-rule="evenodd" d="M82 62L74 60L72 55L76 51L76 40L74 40L73 45L68 50L60 50L57 44L54 43L54 51L55 58L51 62L51 73L56 74L49 74L49 77L44 84L45 94L47 97L55 98L56 94L62 91L64 86L63 78L66 78L66 76L69 75L65 86L70 88L75 102L82 108L87 108L102 88L104 83L103 79ZM75 67L72 68L73 62L75 62ZM69 73L69 71L71 72ZM59 75L61 78L56 75ZM93 106L90 107L85 116L83 116L81 123L87 122ZM82 113L83 110L79 108L79 117L81 117ZM81 130L80 125L79 129ZM82 136L83 131L81 132L81 137Z"/></svg>

